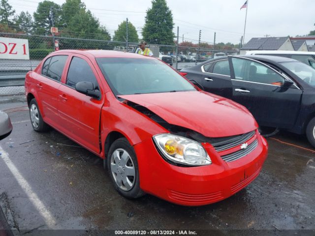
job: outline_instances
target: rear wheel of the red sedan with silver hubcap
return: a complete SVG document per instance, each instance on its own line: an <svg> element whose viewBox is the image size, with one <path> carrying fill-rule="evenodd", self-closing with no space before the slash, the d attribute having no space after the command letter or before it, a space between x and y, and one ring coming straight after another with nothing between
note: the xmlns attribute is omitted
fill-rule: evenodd
<svg viewBox="0 0 315 236"><path fill-rule="evenodd" d="M30 102L30 119L32 127L36 132L45 132L49 129L48 124L46 124L41 117L40 111L38 109L37 102L33 98Z"/></svg>

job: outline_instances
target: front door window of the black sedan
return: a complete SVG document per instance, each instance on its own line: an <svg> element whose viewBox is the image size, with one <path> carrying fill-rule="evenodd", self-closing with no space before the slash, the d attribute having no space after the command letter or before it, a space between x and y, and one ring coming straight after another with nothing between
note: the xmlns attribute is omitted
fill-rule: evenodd
<svg viewBox="0 0 315 236"><path fill-rule="evenodd" d="M284 78L269 67L248 59L232 58L235 79L268 85L283 85Z"/></svg>

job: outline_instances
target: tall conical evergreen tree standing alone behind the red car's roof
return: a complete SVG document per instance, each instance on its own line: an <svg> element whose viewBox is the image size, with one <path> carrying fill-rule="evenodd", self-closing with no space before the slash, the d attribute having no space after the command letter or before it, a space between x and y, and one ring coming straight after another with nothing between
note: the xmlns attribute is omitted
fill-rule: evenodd
<svg viewBox="0 0 315 236"><path fill-rule="evenodd" d="M174 23L172 11L165 0L152 0L152 8L147 10L143 39L148 43L174 44Z"/></svg>

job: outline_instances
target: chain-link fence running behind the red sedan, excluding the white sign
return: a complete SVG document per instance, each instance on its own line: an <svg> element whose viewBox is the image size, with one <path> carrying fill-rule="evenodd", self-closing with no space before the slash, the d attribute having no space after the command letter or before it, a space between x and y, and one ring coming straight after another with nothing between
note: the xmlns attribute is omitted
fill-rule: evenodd
<svg viewBox="0 0 315 236"><path fill-rule="evenodd" d="M17 94L24 92L24 79L28 71L34 69L39 62L55 50L58 41L59 50L115 50L134 53L138 43L116 42L95 39L39 36L28 34L1 33L0 37L28 39L30 59L1 59L0 54L0 95ZM215 52L222 50L203 49L198 47L182 47L178 45L148 44L147 47L157 57L180 70L193 66L196 63L211 59ZM225 51L224 54L236 53ZM177 55L177 56L176 56Z"/></svg>

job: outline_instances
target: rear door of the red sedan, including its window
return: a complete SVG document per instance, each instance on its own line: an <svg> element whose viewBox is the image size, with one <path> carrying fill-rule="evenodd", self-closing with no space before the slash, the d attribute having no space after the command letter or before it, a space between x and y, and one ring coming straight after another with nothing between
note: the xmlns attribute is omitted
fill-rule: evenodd
<svg viewBox="0 0 315 236"><path fill-rule="evenodd" d="M38 103L41 104L41 115L53 126L59 126L58 95L67 55L53 56L45 60L41 75L36 78Z"/></svg>

